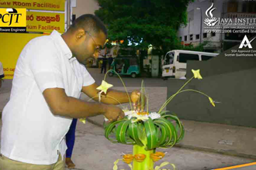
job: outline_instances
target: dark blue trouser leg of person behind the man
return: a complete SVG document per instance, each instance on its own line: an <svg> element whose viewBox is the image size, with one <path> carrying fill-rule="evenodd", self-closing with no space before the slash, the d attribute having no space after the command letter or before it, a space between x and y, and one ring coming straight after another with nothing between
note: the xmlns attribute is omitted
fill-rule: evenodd
<svg viewBox="0 0 256 170"><path fill-rule="evenodd" d="M78 119L73 119L71 123L71 127L67 131L66 134L66 144L67 144L67 151L66 151L66 158L71 158L73 148L74 148L74 140L75 140L75 128L77 126Z"/></svg>

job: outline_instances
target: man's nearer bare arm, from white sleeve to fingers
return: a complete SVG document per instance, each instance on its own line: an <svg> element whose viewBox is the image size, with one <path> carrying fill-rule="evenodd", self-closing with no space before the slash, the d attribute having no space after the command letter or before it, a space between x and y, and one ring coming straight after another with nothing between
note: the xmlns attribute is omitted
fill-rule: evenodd
<svg viewBox="0 0 256 170"><path fill-rule="evenodd" d="M119 107L85 102L74 97L67 97L64 89L61 88L44 90L43 97L54 115L81 118L104 114L112 121L119 120L124 116L123 111Z"/></svg>

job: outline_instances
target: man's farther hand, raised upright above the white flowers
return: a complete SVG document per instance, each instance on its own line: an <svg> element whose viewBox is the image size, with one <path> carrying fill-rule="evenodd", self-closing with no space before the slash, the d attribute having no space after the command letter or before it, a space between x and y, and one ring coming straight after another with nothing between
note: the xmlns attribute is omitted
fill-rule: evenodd
<svg viewBox="0 0 256 170"><path fill-rule="evenodd" d="M137 111L144 110L145 104L147 103L147 97L144 96L144 105L141 106L141 93L139 90L133 90L133 92L130 95L130 98L133 102L133 109Z"/></svg>

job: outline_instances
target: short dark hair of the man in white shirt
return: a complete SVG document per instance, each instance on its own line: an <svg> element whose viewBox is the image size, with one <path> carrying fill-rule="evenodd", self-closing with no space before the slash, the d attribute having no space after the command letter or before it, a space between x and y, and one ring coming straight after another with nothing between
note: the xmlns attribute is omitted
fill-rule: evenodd
<svg viewBox="0 0 256 170"><path fill-rule="evenodd" d="M104 23L97 16L92 14L79 16L78 19L74 20L69 29L71 29L71 31L85 29L85 31L92 34L98 34L102 31L106 36L108 36L108 32Z"/></svg>

